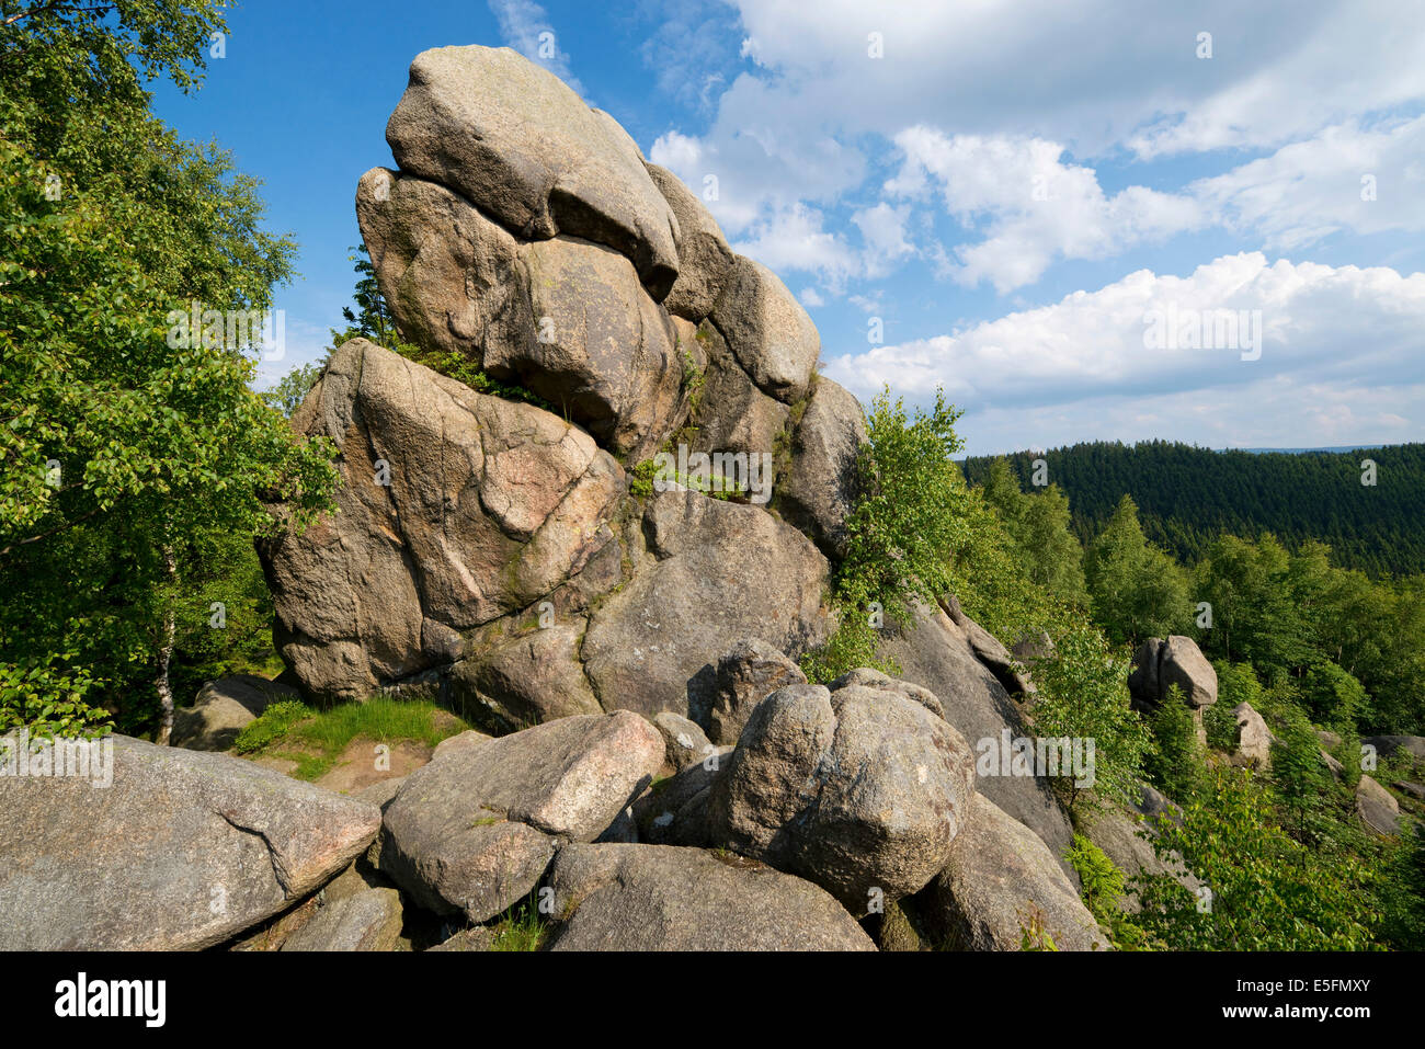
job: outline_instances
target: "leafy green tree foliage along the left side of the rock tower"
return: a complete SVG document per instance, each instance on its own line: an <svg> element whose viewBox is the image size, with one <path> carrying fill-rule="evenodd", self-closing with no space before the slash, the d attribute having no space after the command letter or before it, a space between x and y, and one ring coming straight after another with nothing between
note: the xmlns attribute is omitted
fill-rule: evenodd
<svg viewBox="0 0 1425 1049"><path fill-rule="evenodd" d="M212 3L61 1L0 36L0 663L54 654L53 698L93 681L125 731L170 693L195 552L279 527L272 502L302 527L336 482L249 389L241 334L175 325L266 309L292 272L258 182L140 81L194 86L224 29Z"/></svg>

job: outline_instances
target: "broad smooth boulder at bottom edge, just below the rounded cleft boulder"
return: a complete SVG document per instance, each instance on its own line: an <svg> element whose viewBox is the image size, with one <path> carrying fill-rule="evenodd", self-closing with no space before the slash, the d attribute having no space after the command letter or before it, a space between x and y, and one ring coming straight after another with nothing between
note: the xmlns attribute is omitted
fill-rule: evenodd
<svg viewBox="0 0 1425 1049"><path fill-rule="evenodd" d="M550 869L553 951L874 951L825 891L741 857L569 845Z"/></svg>

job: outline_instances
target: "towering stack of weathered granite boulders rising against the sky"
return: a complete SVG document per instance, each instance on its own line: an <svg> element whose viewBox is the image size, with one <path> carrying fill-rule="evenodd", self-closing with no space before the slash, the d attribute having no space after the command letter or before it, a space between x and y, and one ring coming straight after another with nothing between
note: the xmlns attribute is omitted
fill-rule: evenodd
<svg viewBox="0 0 1425 1049"><path fill-rule="evenodd" d="M341 512L261 552L304 691L425 684L504 730L687 714L737 639L822 640L864 428L785 285L507 48L420 54L386 137L356 215L400 338L527 403L362 339L332 356L294 425L341 449ZM742 482L775 458L781 513L630 497L677 443Z"/></svg>

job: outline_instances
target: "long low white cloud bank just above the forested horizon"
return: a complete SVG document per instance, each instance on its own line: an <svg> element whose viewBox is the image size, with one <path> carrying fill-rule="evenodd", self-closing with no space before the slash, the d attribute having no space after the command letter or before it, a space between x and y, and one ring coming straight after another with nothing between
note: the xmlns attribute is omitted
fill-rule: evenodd
<svg viewBox="0 0 1425 1049"><path fill-rule="evenodd" d="M1237 349L1146 348L1149 311L1170 304L1183 315L1261 311L1260 359L1244 361ZM1099 425L1100 416L1084 406L1096 398L1124 398L1140 410L1177 405L1178 415L1163 416L1161 430L1181 423L1188 403L1217 413L1227 429L1245 430L1265 406L1254 406L1245 391L1271 383L1281 423L1295 413L1300 428L1320 410L1320 391L1348 399L1361 396L1349 391L1416 386L1422 331L1425 274L1285 259L1268 265L1260 252L1244 252L1188 277L1139 271L1096 292L949 335L854 352L834 359L828 375L858 393L882 383L912 395L943 386L952 401L978 412L1043 415L1073 405L1080 425L1074 439L1086 436L1084 423ZM1418 433L1421 408L1391 403L1392 413L1414 419L1408 425Z"/></svg>

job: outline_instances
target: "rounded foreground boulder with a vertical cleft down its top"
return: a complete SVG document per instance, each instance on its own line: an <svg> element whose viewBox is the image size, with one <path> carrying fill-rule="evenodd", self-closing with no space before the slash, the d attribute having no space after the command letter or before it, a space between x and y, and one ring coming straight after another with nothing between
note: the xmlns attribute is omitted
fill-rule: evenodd
<svg viewBox="0 0 1425 1049"><path fill-rule="evenodd" d="M752 711L712 784L708 821L718 844L864 915L945 865L973 778L960 734L906 693L788 686Z"/></svg>

